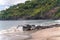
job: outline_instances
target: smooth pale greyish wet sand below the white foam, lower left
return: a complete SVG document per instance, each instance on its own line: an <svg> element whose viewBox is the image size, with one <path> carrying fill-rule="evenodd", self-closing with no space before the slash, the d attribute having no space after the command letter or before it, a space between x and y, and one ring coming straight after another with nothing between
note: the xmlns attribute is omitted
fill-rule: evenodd
<svg viewBox="0 0 60 40"><path fill-rule="evenodd" d="M0 35L0 40L24 40L24 39L27 39L29 38L28 35L18 35L18 34L3 34L3 35Z"/></svg>

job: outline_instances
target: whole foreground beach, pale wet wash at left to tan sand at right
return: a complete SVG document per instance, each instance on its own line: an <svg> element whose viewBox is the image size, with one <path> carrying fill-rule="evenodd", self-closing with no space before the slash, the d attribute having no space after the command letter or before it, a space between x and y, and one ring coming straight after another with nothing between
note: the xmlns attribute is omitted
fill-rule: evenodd
<svg viewBox="0 0 60 40"><path fill-rule="evenodd" d="M12 27L0 31L0 40L60 40L60 26L30 31Z"/></svg>

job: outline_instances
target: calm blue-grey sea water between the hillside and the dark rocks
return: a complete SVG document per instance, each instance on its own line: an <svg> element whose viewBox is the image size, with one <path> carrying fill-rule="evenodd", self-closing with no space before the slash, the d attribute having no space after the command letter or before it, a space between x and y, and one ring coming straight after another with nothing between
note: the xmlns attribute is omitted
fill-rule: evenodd
<svg viewBox="0 0 60 40"><path fill-rule="evenodd" d="M24 24L34 24L34 25L53 25L60 24L60 20L15 20L15 21L0 21L0 30L8 29L13 26L24 25Z"/></svg>

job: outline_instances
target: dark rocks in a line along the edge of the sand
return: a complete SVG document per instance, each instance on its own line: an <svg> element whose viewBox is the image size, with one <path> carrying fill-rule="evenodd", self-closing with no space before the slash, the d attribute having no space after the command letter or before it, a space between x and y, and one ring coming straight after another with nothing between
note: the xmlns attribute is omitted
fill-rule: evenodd
<svg viewBox="0 0 60 40"><path fill-rule="evenodd" d="M55 25L49 25L49 26L40 26L40 25L23 25L23 31L30 31L30 30L39 30L39 29L46 29L46 28L52 28L52 27L59 27L60 24L55 24Z"/></svg>

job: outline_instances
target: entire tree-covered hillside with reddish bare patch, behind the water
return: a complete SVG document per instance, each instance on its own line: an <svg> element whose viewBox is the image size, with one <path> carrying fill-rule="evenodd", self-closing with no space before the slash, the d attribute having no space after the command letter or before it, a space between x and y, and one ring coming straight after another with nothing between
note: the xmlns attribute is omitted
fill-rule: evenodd
<svg viewBox="0 0 60 40"><path fill-rule="evenodd" d="M0 12L0 20L60 19L60 0L31 0Z"/></svg>

